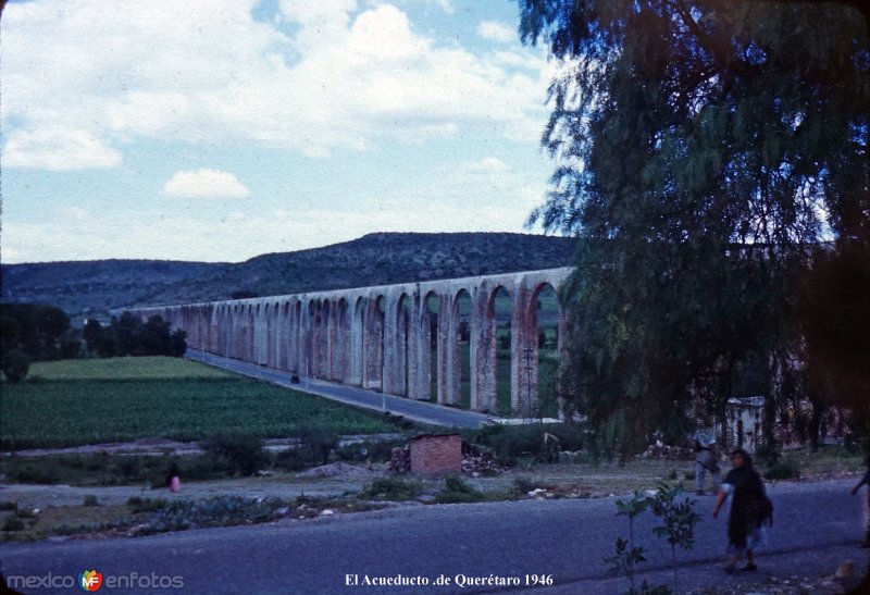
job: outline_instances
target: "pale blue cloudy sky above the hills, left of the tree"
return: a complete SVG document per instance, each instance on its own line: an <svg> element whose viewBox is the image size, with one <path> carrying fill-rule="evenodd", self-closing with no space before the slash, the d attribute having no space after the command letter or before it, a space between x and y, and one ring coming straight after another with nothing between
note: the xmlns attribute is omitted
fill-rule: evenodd
<svg viewBox="0 0 870 595"><path fill-rule="evenodd" d="M513 0L30 0L0 18L4 263L515 232L554 170Z"/></svg>

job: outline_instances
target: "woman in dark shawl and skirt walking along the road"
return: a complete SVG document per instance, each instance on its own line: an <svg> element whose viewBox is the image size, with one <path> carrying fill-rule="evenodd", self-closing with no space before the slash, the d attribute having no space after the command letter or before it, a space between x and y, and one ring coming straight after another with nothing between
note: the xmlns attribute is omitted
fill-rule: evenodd
<svg viewBox="0 0 870 595"><path fill-rule="evenodd" d="M731 496L731 513L728 518L729 561L725 572L734 572L737 562L746 555L746 566L741 570L758 570L753 549L765 545L765 524L773 522L773 506L765 493L761 475L753 468L753 458L746 450L731 454L733 469L725 475L722 489L716 499L713 519Z"/></svg>

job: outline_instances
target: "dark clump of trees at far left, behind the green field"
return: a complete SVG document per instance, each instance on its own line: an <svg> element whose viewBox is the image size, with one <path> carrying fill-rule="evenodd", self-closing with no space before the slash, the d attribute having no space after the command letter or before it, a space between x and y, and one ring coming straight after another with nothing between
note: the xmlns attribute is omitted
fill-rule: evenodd
<svg viewBox="0 0 870 595"><path fill-rule="evenodd" d="M107 325L88 320L74 329L55 306L0 303L0 371L10 382L26 377L33 361L87 357L173 356L187 349L187 334L172 332L154 315L147 321L124 312Z"/></svg>

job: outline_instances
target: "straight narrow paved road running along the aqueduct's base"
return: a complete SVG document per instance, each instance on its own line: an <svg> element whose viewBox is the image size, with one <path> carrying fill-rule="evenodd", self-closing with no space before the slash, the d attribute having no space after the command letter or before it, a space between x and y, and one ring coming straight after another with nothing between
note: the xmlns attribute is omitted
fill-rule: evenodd
<svg viewBox="0 0 870 595"><path fill-rule="evenodd" d="M389 411L396 416L447 427L480 427L492 422L492 418L474 411L463 411L443 407L432 402L411 400L405 397L384 395L374 391L364 391L353 386L345 386L316 379L302 377L299 384L290 383L290 374L253 363L223 358L204 351L188 349L185 357L201 361L215 368L222 368L246 376L264 380L279 386L287 386L303 393L311 393L328 399L341 401L356 407L374 411Z"/></svg>

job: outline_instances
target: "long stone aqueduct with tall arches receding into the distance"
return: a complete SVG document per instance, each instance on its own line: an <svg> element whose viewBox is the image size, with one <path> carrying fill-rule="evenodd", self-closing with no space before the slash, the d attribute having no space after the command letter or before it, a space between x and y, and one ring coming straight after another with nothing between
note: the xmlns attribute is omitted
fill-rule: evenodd
<svg viewBox="0 0 870 595"><path fill-rule="evenodd" d="M495 412L496 296L507 295L511 302L510 404L512 411L523 412L530 411L537 398L538 297L545 289L558 290L569 272L567 268L547 269L137 312L142 318L160 314L173 329L184 330L194 349L452 406L460 404L461 355L456 337L464 320L469 408ZM470 311L460 312L460 300L470 302ZM559 309L560 354L564 320ZM434 365L433 357L437 358ZM432 394L433 380L436 395Z"/></svg>

